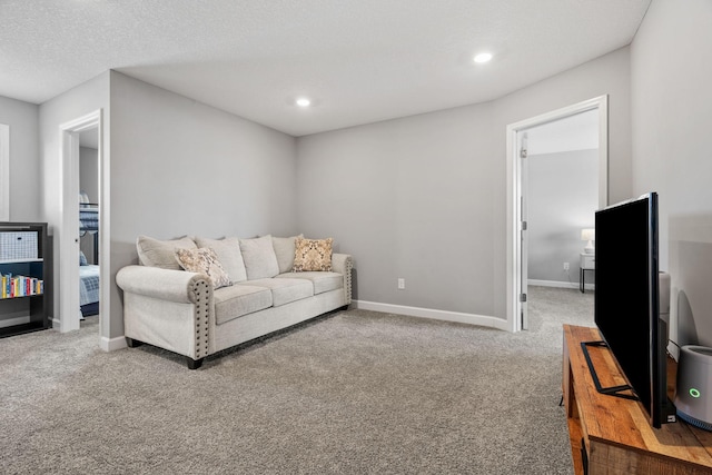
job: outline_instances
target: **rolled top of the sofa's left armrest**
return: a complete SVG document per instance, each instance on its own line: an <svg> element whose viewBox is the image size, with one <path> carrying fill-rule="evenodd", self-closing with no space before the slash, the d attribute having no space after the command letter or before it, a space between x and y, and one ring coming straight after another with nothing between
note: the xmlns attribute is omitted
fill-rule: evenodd
<svg viewBox="0 0 712 475"><path fill-rule="evenodd" d="M202 281L212 287L206 275L159 267L127 266L116 275L117 285L126 293L185 304L196 303L195 288Z"/></svg>

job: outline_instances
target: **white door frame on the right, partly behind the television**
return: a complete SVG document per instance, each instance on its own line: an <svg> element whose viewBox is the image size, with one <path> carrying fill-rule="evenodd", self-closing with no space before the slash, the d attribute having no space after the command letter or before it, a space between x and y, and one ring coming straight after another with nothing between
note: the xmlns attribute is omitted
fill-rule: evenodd
<svg viewBox="0 0 712 475"><path fill-rule="evenodd" d="M506 316L511 331L522 330L522 158L517 147L517 133L589 110L599 109L599 207L607 205L609 197L609 97L599 96L572 106L553 110L507 126L507 222L506 222Z"/></svg>

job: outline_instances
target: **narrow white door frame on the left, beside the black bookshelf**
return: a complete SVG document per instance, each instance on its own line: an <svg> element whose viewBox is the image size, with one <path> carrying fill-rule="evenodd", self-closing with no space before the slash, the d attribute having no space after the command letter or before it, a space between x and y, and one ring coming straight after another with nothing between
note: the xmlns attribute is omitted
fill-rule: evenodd
<svg viewBox="0 0 712 475"><path fill-rule="evenodd" d="M105 215L105 179L103 164L103 117L102 110L98 109L86 116L79 117L59 126L60 131L60 194L61 211L59 228L59 319L55 318L55 327L59 326L61 333L79 329L79 132L97 129L98 133L98 161L99 161L99 229L103 231L103 224L107 220ZM99 328L103 327L103 320L108 316L102 316L101 307L105 306L105 294L107 285L103 270L108 266L106 259L107 249L103 246L103 235L99 236ZM67 284L69 283L69 285ZM75 283L75 284L71 284Z"/></svg>

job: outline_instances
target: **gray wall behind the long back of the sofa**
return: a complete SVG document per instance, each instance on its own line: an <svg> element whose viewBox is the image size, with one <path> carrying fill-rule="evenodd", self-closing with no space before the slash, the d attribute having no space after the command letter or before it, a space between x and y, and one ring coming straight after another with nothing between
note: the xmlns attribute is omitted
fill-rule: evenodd
<svg viewBox="0 0 712 475"><path fill-rule="evenodd" d="M111 71L111 336L138 235L287 236L295 200L293 137Z"/></svg>

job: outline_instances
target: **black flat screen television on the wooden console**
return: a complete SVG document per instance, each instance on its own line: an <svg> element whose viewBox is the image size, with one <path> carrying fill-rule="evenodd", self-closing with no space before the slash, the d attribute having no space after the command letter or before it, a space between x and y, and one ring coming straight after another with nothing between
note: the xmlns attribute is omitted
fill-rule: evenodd
<svg viewBox="0 0 712 475"><path fill-rule="evenodd" d="M657 194L596 211L595 232L595 324L657 428L675 420L668 398L668 331L660 319ZM620 395L626 388L609 389Z"/></svg>

